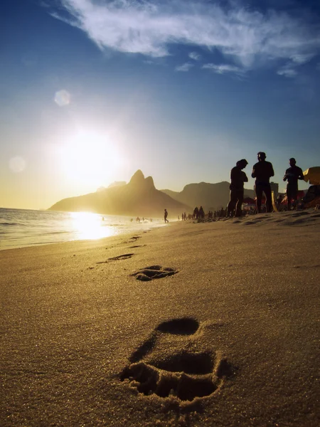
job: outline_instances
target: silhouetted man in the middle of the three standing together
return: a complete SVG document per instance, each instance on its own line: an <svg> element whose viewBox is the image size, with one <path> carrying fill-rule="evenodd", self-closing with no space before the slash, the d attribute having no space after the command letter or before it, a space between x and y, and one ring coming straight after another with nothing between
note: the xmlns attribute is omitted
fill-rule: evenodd
<svg viewBox="0 0 320 427"><path fill-rule="evenodd" d="M272 198L270 178L274 176L274 170L270 162L266 162L264 152L258 152L258 162L253 165L252 178L255 178L255 194L257 196L257 213L261 212L262 194L265 193L267 212L272 212Z"/></svg>

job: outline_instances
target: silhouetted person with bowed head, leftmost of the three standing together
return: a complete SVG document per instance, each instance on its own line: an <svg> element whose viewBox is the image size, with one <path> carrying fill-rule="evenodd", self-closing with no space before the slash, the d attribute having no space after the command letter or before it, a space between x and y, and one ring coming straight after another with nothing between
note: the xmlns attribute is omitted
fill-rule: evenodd
<svg viewBox="0 0 320 427"><path fill-rule="evenodd" d="M235 216L242 215L242 203L244 199L244 183L247 182L247 175L242 172L247 166L247 160L239 160L235 167L230 172L230 201L227 206L227 216L232 216L235 212Z"/></svg>

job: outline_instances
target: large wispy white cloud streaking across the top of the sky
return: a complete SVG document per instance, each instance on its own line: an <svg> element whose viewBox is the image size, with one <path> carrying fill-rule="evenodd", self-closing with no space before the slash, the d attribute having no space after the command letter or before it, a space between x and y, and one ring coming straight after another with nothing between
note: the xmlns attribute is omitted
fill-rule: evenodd
<svg viewBox="0 0 320 427"><path fill-rule="evenodd" d="M68 23L85 31L102 50L161 57L171 53L172 44L184 43L215 48L242 70L272 60L302 65L320 50L320 25L308 14L263 14L235 0L228 8L196 0L60 1L70 14ZM198 56L191 53L189 58Z"/></svg>

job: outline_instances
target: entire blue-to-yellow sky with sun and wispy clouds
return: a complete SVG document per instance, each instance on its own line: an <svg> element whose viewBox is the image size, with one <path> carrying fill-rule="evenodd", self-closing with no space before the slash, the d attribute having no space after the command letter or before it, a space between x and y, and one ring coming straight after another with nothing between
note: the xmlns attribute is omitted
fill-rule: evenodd
<svg viewBox="0 0 320 427"><path fill-rule="evenodd" d="M320 165L318 0L3 0L0 207ZM252 189L253 179L247 188ZM299 188L308 184L299 183Z"/></svg>

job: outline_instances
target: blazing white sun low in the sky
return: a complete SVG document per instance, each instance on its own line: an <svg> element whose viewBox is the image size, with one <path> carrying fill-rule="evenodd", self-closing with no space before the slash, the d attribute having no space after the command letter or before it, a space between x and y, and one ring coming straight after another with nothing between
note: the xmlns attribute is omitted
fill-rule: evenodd
<svg viewBox="0 0 320 427"><path fill-rule="evenodd" d="M64 173L79 184L100 186L120 164L115 144L95 132L79 132L71 137L61 155Z"/></svg>

